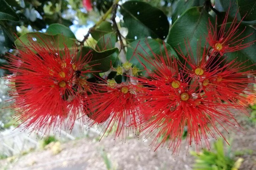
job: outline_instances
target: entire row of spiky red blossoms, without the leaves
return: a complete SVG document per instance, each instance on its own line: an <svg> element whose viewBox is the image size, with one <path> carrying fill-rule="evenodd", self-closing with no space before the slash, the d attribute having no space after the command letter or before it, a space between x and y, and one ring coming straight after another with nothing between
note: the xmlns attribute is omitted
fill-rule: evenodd
<svg viewBox="0 0 256 170"><path fill-rule="evenodd" d="M6 66L14 73L8 77L13 107L23 124L36 130L62 125L72 129L82 118L89 125L104 126L104 132L114 131L115 137L125 138L130 131L154 136L155 149L167 143L174 152L185 132L189 145L204 141L210 147L210 137L222 136L220 128L228 131L237 125L231 110L246 112L248 98L255 98L256 72L237 59L228 62L224 55L254 43L238 38L239 24L235 19L226 30L225 19L219 31L210 24L207 44L201 48L198 43L193 54L185 41L186 54L176 50L180 60L166 48L164 54L155 54L148 46L153 58L138 54L142 65L149 66L146 75L134 76L138 70L127 62L120 68L128 76L120 84L88 81L91 53L77 57L76 48L70 52L31 40Z"/></svg>

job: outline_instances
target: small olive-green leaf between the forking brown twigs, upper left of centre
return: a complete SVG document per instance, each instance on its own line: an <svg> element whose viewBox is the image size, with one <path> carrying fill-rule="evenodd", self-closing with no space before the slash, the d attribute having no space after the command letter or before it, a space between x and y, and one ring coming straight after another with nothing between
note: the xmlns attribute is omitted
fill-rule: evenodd
<svg viewBox="0 0 256 170"><path fill-rule="evenodd" d="M107 34L109 32L113 32L112 26L110 22L103 21L96 29L91 31L91 36L96 41L100 39L104 34Z"/></svg>

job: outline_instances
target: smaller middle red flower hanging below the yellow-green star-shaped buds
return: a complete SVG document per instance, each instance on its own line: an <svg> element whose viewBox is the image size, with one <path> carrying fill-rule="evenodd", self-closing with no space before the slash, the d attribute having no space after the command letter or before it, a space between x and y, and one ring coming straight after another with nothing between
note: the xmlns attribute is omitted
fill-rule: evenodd
<svg viewBox="0 0 256 170"><path fill-rule="evenodd" d="M130 82L117 84L109 80L107 84L98 85L97 89L99 93L89 96L94 108L89 115L92 125L103 125L104 133L115 131L115 138L124 139L130 130L136 134L141 124L141 99L136 85Z"/></svg>

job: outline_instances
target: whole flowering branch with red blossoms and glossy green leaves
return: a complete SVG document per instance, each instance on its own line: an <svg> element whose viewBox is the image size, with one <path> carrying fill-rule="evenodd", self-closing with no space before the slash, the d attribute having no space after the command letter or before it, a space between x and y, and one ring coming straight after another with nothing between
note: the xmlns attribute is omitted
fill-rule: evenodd
<svg viewBox="0 0 256 170"><path fill-rule="evenodd" d="M17 21L1 3L9 9L1 19ZM210 147L210 138L239 126L234 109L246 114L255 98L256 8L216 3L173 0L163 12L136 0L104 8L85 0L86 13L102 17L82 41L62 24L13 36L2 67L10 107L35 131L72 130L79 119L123 140L150 136L154 149L175 152L184 137Z"/></svg>

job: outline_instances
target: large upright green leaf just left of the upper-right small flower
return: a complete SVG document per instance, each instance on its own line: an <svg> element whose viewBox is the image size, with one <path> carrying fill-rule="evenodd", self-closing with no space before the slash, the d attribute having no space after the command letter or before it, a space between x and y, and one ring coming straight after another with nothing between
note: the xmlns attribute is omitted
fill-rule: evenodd
<svg viewBox="0 0 256 170"><path fill-rule="evenodd" d="M186 55L186 40L190 43L193 54L196 54L197 42L201 41L201 47L205 45L208 18L213 20L203 7L193 7L185 11L171 27L167 43L173 48L180 48L183 54Z"/></svg>

